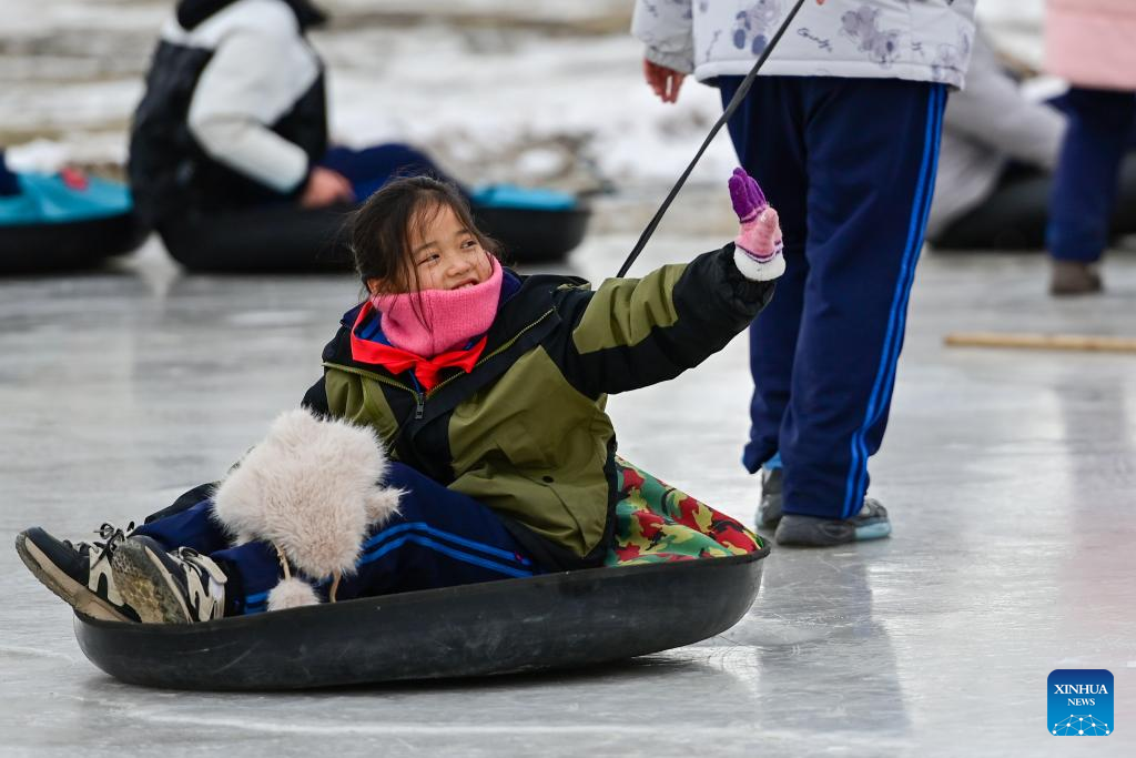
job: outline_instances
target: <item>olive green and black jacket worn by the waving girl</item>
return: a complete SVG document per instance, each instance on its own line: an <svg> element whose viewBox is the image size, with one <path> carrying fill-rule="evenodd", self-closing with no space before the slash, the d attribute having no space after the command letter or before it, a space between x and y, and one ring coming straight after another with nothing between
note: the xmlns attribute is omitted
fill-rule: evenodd
<svg viewBox="0 0 1136 758"><path fill-rule="evenodd" d="M356 360L357 307L304 402L374 426L392 458L491 508L546 566L598 565L616 500L607 395L696 366L774 288L738 273L733 244L594 291L576 277L506 276L513 291L470 373L449 369L421 392L408 374Z"/></svg>

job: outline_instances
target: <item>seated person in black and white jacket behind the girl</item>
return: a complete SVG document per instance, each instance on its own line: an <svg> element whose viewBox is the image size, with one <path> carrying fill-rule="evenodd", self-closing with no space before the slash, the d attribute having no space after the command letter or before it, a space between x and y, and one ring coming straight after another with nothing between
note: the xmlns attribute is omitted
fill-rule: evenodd
<svg viewBox="0 0 1136 758"><path fill-rule="evenodd" d="M130 180L143 222L362 199L395 173L434 173L402 144L328 149L324 65L308 0L181 0L134 115Z"/></svg>

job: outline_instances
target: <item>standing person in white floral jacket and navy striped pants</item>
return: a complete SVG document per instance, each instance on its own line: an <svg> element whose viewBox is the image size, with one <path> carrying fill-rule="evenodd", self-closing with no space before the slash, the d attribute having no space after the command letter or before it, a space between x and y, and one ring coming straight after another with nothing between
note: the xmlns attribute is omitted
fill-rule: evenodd
<svg viewBox="0 0 1136 758"><path fill-rule="evenodd" d="M887 425L949 88L972 0L807 0L729 120L742 166L780 213L786 273L750 326L754 392L743 463L779 544L885 538L866 498ZM648 84L685 75L730 100L788 0L637 0Z"/></svg>

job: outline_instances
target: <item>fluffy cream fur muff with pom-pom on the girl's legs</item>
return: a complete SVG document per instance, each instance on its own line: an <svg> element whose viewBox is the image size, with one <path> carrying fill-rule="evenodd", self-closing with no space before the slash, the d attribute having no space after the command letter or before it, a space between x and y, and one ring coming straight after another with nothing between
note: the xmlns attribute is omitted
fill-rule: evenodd
<svg viewBox="0 0 1136 758"><path fill-rule="evenodd" d="M272 542L308 578L337 578L354 572L367 531L398 513L402 492L381 484L386 469L373 430L290 410L222 482L214 518L237 543ZM284 572L269 610L318 602Z"/></svg>

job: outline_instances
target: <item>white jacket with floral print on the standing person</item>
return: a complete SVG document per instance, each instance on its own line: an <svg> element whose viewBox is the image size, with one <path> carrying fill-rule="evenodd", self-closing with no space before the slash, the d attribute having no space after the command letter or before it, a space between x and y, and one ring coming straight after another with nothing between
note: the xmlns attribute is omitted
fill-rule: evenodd
<svg viewBox="0 0 1136 758"><path fill-rule="evenodd" d="M636 0L646 58L699 81L745 75L793 0ZM805 0L761 73L943 82L961 88L975 0Z"/></svg>

